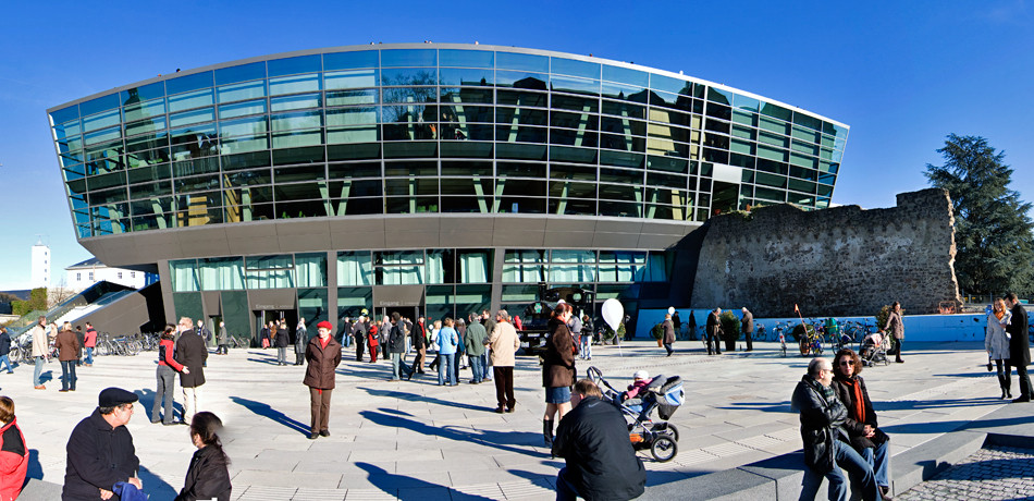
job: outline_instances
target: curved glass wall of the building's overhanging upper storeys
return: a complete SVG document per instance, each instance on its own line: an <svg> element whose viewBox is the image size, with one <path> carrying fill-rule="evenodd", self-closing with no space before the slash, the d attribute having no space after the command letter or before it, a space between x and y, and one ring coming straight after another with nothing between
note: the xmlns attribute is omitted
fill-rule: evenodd
<svg viewBox="0 0 1034 501"><path fill-rule="evenodd" d="M833 195L848 129L817 115L593 58L391 47L51 110L78 236L426 212L702 221Z"/></svg>

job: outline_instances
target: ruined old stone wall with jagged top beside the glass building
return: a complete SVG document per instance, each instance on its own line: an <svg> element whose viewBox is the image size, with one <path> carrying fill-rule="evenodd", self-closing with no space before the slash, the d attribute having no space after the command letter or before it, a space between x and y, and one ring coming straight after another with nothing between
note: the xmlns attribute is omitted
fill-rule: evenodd
<svg viewBox="0 0 1034 501"><path fill-rule="evenodd" d="M909 314L961 305L955 217L948 192L902 193L897 207L803 211L763 207L712 218L700 250L692 306L755 317L875 315L895 301Z"/></svg>

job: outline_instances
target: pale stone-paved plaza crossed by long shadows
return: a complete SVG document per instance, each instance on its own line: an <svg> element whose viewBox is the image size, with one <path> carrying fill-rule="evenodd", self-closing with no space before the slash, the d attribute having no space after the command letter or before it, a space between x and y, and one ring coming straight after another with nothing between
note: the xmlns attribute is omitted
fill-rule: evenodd
<svg viewBox="0 0 1034 501"><path fill-rule="evenodd" d="M638 369L678 375L686 382L686 404L670 419L679 429L678 455L656 463L642 453L649 472L644 499L663 499L665 487L692 477L800 449L798 415L790 411L789 398L808 358L783 357L776 343L721 356L707 356L699 341L679 341L675 347L676 354L665 357L653 341L635 341L620 349L594 346L591 363L578 361L579 375L593 365L615 387L628 384ZM155 358L153 352L100 357L94 367L79 368L74 393L58 393L57 363L46 367L56 378L46 391L33 389L32 366L0 374L0 393L14 399L32 450L29 476L42 480L30 482L25 498L50 499L47 489L63 482L69 433L94 410L97 393L110 386L140 395L128 428L145 490L156 501L174 497L194 447L187 427L149 423ZM209 356L200 407L225 424L233 499L554 496L553 480L563 462L551 460L542 445L543 390L534 358L518 357L516 412L495 414L494 387L467 384L468 370L461 371L464 383L457 388L438 387L431 374L410 382L389 381L390 362L357 363L345 356L332 402L332 436L317 440L307 438L304 367L274 362L274 350ZM893 456L1007 406L983 363L982 343L910 343L904 364L864 369L881 427L891 436ZM179 394L176 401L179 407ZM1030 405L1025 416L1034 414L1034 405Z"/></svg>

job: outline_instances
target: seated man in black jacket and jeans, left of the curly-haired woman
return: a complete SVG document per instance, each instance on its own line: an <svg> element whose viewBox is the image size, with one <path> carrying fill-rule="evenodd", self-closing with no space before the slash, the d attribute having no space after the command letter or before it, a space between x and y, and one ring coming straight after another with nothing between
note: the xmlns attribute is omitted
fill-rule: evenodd
<svg viewBox="0 0 1034 501"><path fill-rule="evenodd" d="M840 466L859 479L862 499L879 499L873 468L851 448L841 426L847 408L837 400L833 383L833 364L815 358L808 374L793 389L791 408L801 413L801 439L804 441L804 480L800 499L815 499L822 477L829 480L829 499L847 500L848 480Z"/></svg>

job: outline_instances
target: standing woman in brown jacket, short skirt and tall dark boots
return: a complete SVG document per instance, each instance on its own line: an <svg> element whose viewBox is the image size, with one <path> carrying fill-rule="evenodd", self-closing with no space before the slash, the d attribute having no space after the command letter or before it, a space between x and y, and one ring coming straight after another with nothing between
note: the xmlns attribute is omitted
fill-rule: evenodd
<svg viewBox="0 0 1034 501"><path fill-rule="evenodd" d="M550 338L542 358L542 386L545 387L545 415L542 417L542 437L545 445L553 445L553 417L570 411L570 387L575 384L575 338L567 328L573 309L567 303L553 308L550 318Z"/></svg>

